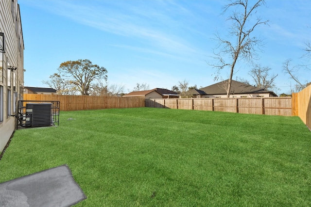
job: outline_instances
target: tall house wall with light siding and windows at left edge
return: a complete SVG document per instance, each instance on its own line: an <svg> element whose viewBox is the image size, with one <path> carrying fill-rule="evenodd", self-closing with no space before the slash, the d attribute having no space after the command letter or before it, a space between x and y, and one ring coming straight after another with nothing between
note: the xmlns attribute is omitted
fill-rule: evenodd
<svg viewBox="0 0 311 207"><path fill-rule="evenodd" d="M0 152L16 127L23 98L24 40L17 0L0 0Z"/></svg>

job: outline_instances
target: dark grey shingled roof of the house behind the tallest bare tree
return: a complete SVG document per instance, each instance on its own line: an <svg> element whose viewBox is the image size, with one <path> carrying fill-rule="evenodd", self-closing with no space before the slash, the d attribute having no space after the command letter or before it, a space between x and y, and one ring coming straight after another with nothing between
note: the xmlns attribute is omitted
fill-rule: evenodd
<svg viewBox="0 0 311 207"><path fill-rule="evenodd" d="M226 86L228 80L224 80L213 85L200 88L200 90L204 91L208 95L222 95L226 94ZM230 94L272 94L273 96L277 96L272 91L267 91L262 88L258 88L246 83L242 83L236 80L232 80L231 82L231 92Z"/></svg>

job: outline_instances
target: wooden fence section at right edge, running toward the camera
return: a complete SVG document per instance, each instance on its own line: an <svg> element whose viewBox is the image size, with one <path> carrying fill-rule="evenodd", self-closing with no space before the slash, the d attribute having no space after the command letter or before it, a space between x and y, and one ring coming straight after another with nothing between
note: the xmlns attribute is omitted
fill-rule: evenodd
<svg viewBox="0 0 311 207"><path fill-rule="evenodd" d="M311 85L292 94L293 96L293 115L299 116L301 120L311 130Z"/></svg>

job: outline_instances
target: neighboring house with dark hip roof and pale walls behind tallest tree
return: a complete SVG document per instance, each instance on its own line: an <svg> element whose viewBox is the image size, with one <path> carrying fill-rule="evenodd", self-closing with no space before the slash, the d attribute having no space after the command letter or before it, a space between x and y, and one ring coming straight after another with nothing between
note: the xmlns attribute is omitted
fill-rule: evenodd
<svg viewBox="0 0 311 207"><path fill-rule="evenodd" d="M213 85L200 88L200 90L204 91L207 95L204 97L208 98L225 98L226 88L227 88L228 80L224 80ZM248 85L236 80L232 80L231 82L231 91L230 97L272 97L277 96L272 91L267 91L262 88L255 87L253 85Z"/></svg>

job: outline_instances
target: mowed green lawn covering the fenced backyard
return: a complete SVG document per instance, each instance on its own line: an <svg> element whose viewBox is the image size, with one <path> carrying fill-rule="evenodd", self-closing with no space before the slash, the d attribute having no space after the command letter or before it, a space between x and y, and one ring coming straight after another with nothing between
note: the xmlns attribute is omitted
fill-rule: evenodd
<svg viewBox="0 0 311 207"><path fill-rule="evenodd" d="M298 117L61 111L59 127L15 132L0 182L62 164L81 207L311 206L311 132Z"/></svg>

